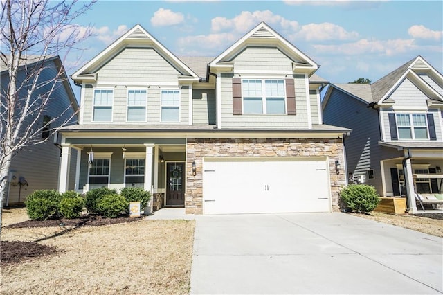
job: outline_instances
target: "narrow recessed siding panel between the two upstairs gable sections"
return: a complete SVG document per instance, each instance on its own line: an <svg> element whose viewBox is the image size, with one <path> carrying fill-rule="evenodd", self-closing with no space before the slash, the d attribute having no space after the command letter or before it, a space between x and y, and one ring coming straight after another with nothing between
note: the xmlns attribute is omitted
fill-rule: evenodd
<svg viewBox="0 0 443 295"><path fill-rule="evenodd" d="M192 123L215 125L215 90L192 90Z"/></svg>

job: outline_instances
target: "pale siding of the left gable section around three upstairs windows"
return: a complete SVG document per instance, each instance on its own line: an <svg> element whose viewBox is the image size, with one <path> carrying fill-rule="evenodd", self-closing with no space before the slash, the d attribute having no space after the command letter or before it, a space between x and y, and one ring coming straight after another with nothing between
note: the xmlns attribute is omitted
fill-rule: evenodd
<svg viewBox="0 0 443 295"><path fill-rule="evenodd" d="M125 48L97 71L98 87L86 85L84 88L83 124L94 123L93 96L95 89L111 89L113 91L111 123L117 124L127 123L128 89L141 89L147 91L145 123L163 124L161 122L161 90L180 90L179 124L188 125L189 87L179 89L178 87L165 86L165 84L178 84L178 75L180 74L153 48ZM107 86L107 83L115 83L115 85ZM149 84L149 87L134 86L139 84Z"/></svg>

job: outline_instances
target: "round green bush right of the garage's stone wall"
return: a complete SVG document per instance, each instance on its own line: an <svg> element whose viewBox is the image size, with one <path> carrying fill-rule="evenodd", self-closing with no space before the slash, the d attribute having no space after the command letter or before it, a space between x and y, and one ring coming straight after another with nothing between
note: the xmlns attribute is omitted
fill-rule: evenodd
<svg viewBox="0 0 443 295"><path fill-rule="evenodd" d="M350 184L340 191L340 198L347 208L359 213L374 210L380 202L377 190L367 184Z"/></svg>

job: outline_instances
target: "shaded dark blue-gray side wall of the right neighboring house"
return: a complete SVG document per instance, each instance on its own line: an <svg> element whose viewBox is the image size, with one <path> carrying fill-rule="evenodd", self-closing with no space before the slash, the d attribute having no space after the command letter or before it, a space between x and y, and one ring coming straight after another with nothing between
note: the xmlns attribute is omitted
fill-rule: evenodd
<svg viewBox="0 0 443 295"><path fill-rule="evenodd" d="M378 112L368 108L365 103L333 89L323 110L323 121L328 125L352 129L350 136L345 138L347 172L354 173L354 176L363 175L365 183L374 186L377 192L382 194L380 161L401 157L402 154L379 145ZM367 179L366 173L370 169L374 169L375 179Z"/></svg>

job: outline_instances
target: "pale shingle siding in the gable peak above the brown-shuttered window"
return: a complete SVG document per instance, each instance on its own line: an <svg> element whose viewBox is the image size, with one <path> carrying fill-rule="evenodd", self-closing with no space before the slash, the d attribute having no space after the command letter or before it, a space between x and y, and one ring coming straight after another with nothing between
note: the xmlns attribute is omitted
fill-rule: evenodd
<svg viewBox="0 0 443 295"><path fill-rule="evenodd" d="M248 47L235 57L235 71L292 71L291 62L277 48Z"/></svg>

